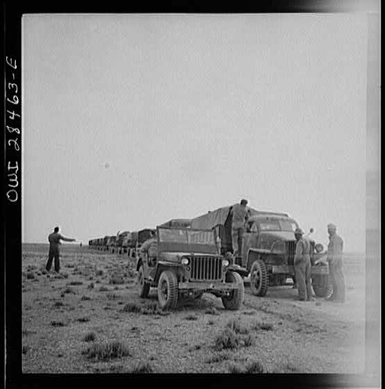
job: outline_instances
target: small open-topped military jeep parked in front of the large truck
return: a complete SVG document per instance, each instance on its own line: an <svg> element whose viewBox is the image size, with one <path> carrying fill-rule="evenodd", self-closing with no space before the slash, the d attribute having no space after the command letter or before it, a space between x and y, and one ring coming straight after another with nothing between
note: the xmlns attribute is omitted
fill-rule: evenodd
<svg viewBox="0 0 385 389"><path fill-rule="evenodd" d="M157 226L151 246L137 256L140 297L157 288L160 307L174 309L179 299L209 292L221 297L226 309L241 307L245 290L240 274L246 270L218 254L214 231Z"/></svg>

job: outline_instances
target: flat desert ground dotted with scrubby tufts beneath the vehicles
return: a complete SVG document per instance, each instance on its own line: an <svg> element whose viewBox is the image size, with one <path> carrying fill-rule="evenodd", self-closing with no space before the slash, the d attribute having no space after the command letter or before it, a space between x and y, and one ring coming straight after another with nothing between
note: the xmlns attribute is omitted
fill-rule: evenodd
<svg viewBox="0 0 385 389"><path fill-rule="evenodd" d="M48 245L22 250L24 373L363 373L363 256L344 256L345 304L296 301L288 279L266 297L245 283L239 311L207 294L163 312L126 255L63 245L47 274Z"/></svg>

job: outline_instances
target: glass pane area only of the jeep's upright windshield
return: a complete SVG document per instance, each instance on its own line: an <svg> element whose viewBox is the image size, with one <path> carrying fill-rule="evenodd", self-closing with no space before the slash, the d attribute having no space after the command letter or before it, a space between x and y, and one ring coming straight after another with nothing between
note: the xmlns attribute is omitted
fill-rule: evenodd
<svg viewBox="0 0 385 389"><path fill-rule="evenodd" d="M195 243L198 245L215 245L212 231L191 229L159 229L160 242Z"/></svg>

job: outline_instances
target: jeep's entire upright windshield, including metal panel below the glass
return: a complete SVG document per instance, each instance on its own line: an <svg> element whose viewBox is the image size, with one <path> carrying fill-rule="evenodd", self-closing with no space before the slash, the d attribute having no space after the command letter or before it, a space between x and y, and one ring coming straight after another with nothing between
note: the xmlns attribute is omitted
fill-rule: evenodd
<svg viewBox="0 0 385 389"><path fill-rule="evenodd" d="M217 248L212 230L159 227L158 231L161 251L216 254Z"/></svg>

